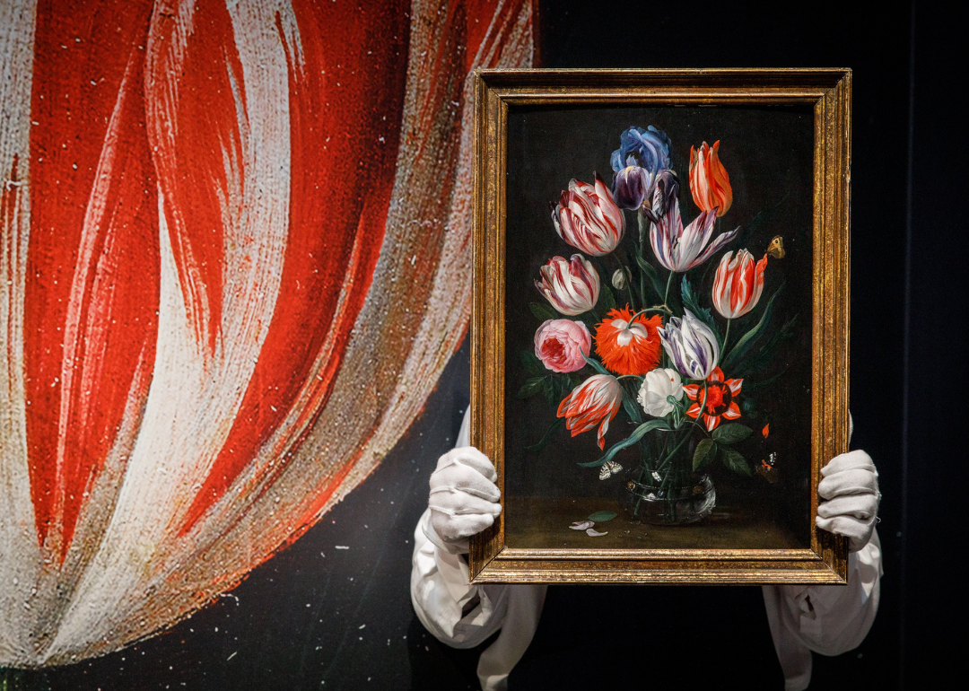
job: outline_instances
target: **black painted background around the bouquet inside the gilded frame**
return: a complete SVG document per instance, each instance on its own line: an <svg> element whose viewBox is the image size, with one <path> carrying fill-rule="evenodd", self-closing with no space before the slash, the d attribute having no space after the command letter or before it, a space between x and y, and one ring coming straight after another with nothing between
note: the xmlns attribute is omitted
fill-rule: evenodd
<svg viewBox="0 0 969 691"><path fill-rule="evenodd" d="M811 416L811 279L813 275L813 156L814 116L809 108L513 108L508 113L508 179L506 231L506 391L505 418L505 492L516 496L594 496L619 497L623 478L616 476L605 482L599 480L598 468L582 468L578 462L602 456L596 443L596 432L590 430L571 437L564 427L558 427L541 451L525 451L536 444L556 420L554 404L548 405L541 393L526 399L516 393L531 376L520 359L522 352L534 352L533 336L541 324L528 309L531 301L547 304L534 287L534 280L547 260L559 255L568 259L578 250L556 235L548 213L549 201L558 201L561 191L572 177L591 181L594 171L611 183L610 155L618 148L619 135L630 125L653 125L666 132L671 139L671 166L681 180L680 212L686 225L699 214L688 190L690 146L702 141L720 141L720 160L731 175L734 202L728 212L717 220L715 235L739 228L727 249L749 248L757 259L764 256L770 238L784 236L787 257L772 261L765 277L764 295L757 308L734 320L730 342L737 339L761 318L767 299L782 284L784 289L774 301L773 328L796 315L799 317L795 337L778 349L774 361L762 372L744 380L740 401L755 400L761 415L769 414L772 421L770 444L778 455L780 482L770 485L758 475L740 478L714 463L710 473L717 487L718 504L729 497L735 506L743 506L751 515L765 515L773 509L798 534L798 541L789 547L807 544L810 495L807 480L810 475ZM755 222L755 218L757 221ZM599 267L603 285L610 285L612 271L618 262L630 264L632 242L639 231L635 215L626 212L626 233L616 251L606 257L591 258ZM710 307L710 290L716 265L722 250L685 275L693 285L701 304ZM656 267L661 284L668 272L653 257L647 245L645 259ZM677 298L680 280L673 278L671 297ZM604 289L605 290L605 289ZM628 298L616 292L619 305ZM648 304L662 301L652 289L647 292ZM712 310L711 310L712 311ZM605 314L600 314L605 317ZM713 312L721 332L726 320ZM756 390L758 381L784 372L766 389ZM592 374L586 367L578 372L583 379ZM735 372L725 371L728 378ZM749 416L740 421L756 427ZM607 449L625 437L633 427L620 410L610 423L606 435ZM753 464L763 456L761 435L737 447ZM637 449L628 449L616 456L626 468L638 467ZM773 513L771 511L771 513ZM576 516L575 518L585 518ZM509 525L518 521L531 522L527 516L509 512ZM775 522L776 519L770 519ZM565 523L562 527L568 523ZM509 528L511 529L511 528ZM520 530L521 528L518 528ZM716 530L717 526L708 526ZM525 529L527 532L527 528ZM615 530L613 530L613 533ZM696 536L680 531L687 543L694 545ZM509 543L512 544L511 542ZM763 543L762 543L763 544ZM515 547L526 547L525 544ZM600 547L607 547L605 544ZM527 547L542 547L529 543ZM545 545L545 547L551 547ZM736 547L747 547L736 545Z"/></svg>

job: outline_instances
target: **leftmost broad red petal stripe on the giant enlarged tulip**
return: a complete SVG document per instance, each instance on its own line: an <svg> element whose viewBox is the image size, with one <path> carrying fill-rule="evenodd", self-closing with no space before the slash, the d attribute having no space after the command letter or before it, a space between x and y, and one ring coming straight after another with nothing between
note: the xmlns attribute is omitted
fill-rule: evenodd
<svg viewBox="0 0 969 691"><path fill-rule="evenodd" d="M128 455L157 335L158 222L144 136L151 6L37 8L23 358L31 498L63 559L83 492Z"/></svg>

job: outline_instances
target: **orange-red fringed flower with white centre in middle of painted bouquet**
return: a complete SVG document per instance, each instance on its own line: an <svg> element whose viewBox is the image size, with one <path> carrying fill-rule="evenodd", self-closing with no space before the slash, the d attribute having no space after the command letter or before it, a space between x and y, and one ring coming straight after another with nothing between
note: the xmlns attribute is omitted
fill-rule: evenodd
<svg viewBox="0 0 969 691"><path fill-rule="evenodd" d="M596 354L616 374L645 374L660 363L662 342L659 315L635 316L628 306L610 309L596 327Z"/></svg>

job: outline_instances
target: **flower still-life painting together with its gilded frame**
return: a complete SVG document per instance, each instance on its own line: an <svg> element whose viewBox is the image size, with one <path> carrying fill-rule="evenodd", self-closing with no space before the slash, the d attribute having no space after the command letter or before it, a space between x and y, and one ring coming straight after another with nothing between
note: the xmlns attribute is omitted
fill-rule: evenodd
<svg viewBox="0 0 969 691"><path fill-rule="evenodd" d="M844 583L848 70L476 75L474 582Z"/></svg>

